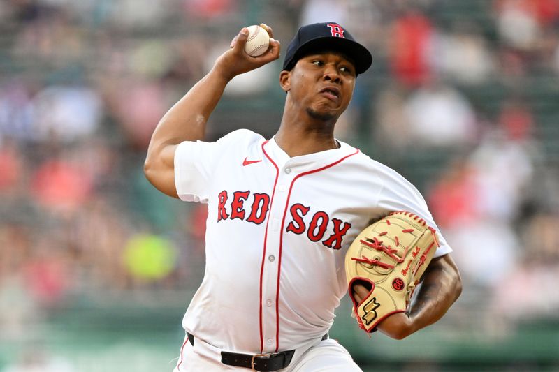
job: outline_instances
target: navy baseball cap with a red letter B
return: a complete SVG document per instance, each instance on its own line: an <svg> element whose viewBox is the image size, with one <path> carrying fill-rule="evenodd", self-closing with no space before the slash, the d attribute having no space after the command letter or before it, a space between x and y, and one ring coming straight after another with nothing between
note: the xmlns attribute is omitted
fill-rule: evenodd
<svg viewBox="0 0 559 372"><path fill-rule="evenodd" d="M307 24L300 27L287 46L282 70L291 70L305 55L319 50L335 50L347 55L355 64L356 75L372 64L372 55L336 22Z"/></svg>

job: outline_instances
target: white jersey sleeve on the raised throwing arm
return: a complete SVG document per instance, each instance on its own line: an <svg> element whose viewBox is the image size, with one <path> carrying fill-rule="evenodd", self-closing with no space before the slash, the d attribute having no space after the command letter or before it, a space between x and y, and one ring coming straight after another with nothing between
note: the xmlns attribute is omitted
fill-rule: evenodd
<svg viewBox="0 0 559 372"><path fill-rule="evenodd" d="M184 141L175 150L175 187L181 200L208 202L215 168L235 148L256 135L252 131L233 131L215 142Z"/></svg>

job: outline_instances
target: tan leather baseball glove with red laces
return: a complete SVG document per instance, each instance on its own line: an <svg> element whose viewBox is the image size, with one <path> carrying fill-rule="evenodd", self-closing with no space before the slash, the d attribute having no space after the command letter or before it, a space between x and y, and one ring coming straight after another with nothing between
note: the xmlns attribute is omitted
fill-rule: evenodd
<svg viewBox="0 0 559 372"><path fill-rule="evenodd" d="M395 211L359 233L345 256L359 327L373 332L384 318L406 311L437 246L435 229L407 211ZM360 303L352 290L355 283L370 290Z"/></svg>

